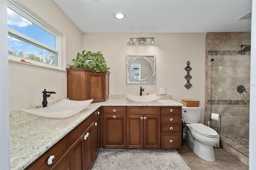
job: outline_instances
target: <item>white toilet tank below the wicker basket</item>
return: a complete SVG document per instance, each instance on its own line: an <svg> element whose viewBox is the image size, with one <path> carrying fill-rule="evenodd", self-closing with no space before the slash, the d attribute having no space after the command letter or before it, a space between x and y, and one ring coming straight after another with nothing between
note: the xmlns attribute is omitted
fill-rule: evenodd
<svg viewBox="0 0 256 170"><path fill-rule="evenodd" d="M185 123L199 123L201 118L202 107L185 107L182 106L182 119Z"/></svg>

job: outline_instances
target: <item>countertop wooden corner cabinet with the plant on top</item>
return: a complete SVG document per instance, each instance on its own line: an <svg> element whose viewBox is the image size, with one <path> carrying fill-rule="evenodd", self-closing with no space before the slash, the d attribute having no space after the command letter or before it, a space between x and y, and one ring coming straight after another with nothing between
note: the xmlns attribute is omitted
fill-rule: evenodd
<svg viewBox="0 0 256 170"><path fill-rule="evenodd" d="M92 73L91 69L66 68L68 98L70 100L89 100L92 103L108 100L109 74L100 71Z"/></svg>

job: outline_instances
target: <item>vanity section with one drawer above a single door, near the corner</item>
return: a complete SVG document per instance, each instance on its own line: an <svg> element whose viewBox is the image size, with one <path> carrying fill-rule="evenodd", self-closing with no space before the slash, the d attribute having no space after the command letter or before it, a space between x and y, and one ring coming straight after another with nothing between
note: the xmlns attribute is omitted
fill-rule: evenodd
<svg viewBox="0 0 256 170"><path fill-rule="evenodd" d="M103 147L126 148L126 107L103 107Z"/></svg>

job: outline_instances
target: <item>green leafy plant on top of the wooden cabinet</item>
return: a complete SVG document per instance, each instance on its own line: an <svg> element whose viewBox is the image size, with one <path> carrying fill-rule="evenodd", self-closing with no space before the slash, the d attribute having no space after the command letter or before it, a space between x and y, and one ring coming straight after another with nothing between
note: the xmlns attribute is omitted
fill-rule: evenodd
<svg viewBox="0 0 256 170"><path fill-rule="evenodd" d="M77 53L76 59L72 59L72 61L74 65L68 63L69 68L87 68L92 69L92 72L108 71L110 69L101 51L93 53L84 50L82 53Z"/></svg>

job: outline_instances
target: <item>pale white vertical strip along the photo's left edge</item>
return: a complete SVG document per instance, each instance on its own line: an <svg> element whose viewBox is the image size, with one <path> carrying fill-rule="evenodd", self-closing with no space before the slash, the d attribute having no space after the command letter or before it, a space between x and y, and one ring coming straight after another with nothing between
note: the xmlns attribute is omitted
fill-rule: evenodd
<svg viewBox="0 0 256 170"><path fill-rule="evenodd" d="M0 0L0 169L10 169L6 1Z"/></svg>

